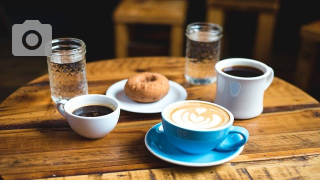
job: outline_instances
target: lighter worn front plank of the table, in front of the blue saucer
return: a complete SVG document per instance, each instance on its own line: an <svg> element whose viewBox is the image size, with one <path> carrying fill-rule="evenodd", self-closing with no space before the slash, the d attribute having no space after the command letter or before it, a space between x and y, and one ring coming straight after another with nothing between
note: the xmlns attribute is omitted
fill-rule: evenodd
<svg viewBox="0 0 320 180"><path fill-rule="evenodd" d="M308 163L305 162L308 159ZM319 179L320 157L305 156L285 160L268 160L244 163L225 163L206 168L161 168L71 176L71 179ZM310 175L310 172L314 174ZM312 177L312 178L310 178ZM51 179L51 178L50 178ZM52 178L60 180L62 178Z"/></svg>

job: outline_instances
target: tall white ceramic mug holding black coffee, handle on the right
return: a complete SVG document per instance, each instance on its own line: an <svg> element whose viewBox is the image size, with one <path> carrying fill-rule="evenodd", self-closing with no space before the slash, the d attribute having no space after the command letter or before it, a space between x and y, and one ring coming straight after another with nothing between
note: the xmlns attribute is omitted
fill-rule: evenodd
<svg viewBox="0 0 320 180"><path fill-rule="evenodd" d="M222 70L231 66L251 66L263 72L257 77L238 77ZM217 89L214 103L227 108L235 119L250 119L263 111L264 91L274 78L273 69L266 64L245 58L229 58L219 61L217 71Z"/></svg>

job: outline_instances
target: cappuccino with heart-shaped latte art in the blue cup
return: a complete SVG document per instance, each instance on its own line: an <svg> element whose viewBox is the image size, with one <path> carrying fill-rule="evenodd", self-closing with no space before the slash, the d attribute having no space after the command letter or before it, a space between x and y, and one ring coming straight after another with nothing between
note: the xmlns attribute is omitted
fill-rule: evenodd
<svg viewBox="0 0 320 180"><path fill-rule="evenodd" d="M209 130L229 122L229 114L214 105L201 102L186 102L171 107L167 111L168 121L181 127Z"/></svg>

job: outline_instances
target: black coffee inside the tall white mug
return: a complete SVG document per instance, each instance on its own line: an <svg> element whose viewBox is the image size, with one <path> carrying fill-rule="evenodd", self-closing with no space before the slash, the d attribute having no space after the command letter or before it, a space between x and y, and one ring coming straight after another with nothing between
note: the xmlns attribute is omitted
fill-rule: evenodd
<svg viewBox="0 0 320 180"><path fill-rule="evenodd" d="M238 77L257 77L264 74L260 69L251 66L231 66L223 68L222 71Z"/></svg>

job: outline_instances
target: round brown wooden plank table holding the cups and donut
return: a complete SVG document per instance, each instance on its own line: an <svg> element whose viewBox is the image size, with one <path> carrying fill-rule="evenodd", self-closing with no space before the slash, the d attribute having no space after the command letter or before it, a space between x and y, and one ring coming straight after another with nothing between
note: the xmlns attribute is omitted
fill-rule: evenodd
<svg viewBox="0 0 320 180"><path fill-rule="evenodd" d="M89 93L105 94L113 83L143 71L181 84L187 99L214 100L215 84L188 84L184 58L169 57L88 63ZM234 122L250 138L239 156L222 165L184 167L155 157L144 137L160 121L160 113L121 111L110 134L82 138L55 109L44 75L0 106L0 179L320 179L320 104L279 78L266 90L260 116Z"/></svg>

